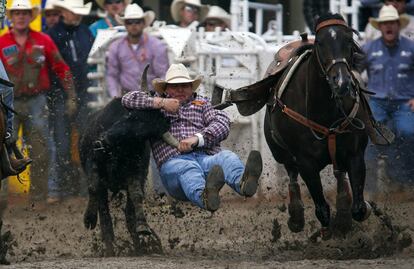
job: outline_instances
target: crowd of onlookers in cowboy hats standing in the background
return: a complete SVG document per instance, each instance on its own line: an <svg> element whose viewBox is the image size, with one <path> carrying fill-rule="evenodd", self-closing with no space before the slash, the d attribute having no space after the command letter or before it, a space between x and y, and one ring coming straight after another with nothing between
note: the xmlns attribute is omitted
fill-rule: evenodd
<svg viewBox="0 0 414 269"><path fill-rule="evenodd" d="M30 158L8 150L9 174L18 174L31 163L33 200L53 203L86 193L71 143L88 125L88 102L93 96L87 91L91 86L87 74L94 67L87 65L87 57L100 29L124 25L126 30L107 54L105 78L111 97L139 90L140 75L148 63L148 87L153 90L152 79L163 78L170 64L166 45L144 31L156 17L153 11L144 11L130 0L95 1L100 18L91 25L82 23L92 7L84 0L48 0L43 9L30 0L14 0L7 10L11 27L0 37L0 75L13 82L14 89L1 86L1 93L19 114L7 113L6 140L12 141L22 126L22 137L30 145ZM374 7L373 14L382 6L381 1L361 2ZM407 182L414 175L409 164L414 157L414 19L406 14L409 1L384 2L366 26L362 48L368 89L376 93L369 100L374 116L397 138L390 147L370 146L367 157L369 167L375 166L378 156L386 158L389 176ZM304 1L311 31L314 17L328 11L328 0ZM40 12L43 32L29 27ZM206 31L230 28L230 15L224 9L200 0L174 0L171 15L179 27L201 23Z"/></svg>

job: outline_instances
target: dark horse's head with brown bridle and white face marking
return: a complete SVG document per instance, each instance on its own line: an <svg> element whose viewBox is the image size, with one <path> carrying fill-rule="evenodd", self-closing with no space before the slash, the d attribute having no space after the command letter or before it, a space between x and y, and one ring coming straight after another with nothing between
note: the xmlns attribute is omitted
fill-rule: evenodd
<svg viewBox="0 0 414 269"><path fill-rule="evenodd" d="M351 73L354 46L353 30L341 15L329 14L318 19L314 52L336 99L355 98Z"/></svg>

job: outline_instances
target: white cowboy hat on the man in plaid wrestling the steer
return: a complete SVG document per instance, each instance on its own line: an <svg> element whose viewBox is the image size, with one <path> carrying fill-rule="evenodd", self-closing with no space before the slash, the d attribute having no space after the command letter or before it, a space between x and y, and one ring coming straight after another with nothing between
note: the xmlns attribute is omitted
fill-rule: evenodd
<svg viewBox="0 0 414 269"><path fill-rule="evenodd" d="M152 80L152 85L154 86L155 91L159 94L163 94L165 92L167 84L178 83L191 83L193 91L195 91L198 86L200 86L202 80L202 76L197 76L196 78L191 79L187 68L185 68L183 64L172 64L165 74L165 80L156 78Z"/></svg>

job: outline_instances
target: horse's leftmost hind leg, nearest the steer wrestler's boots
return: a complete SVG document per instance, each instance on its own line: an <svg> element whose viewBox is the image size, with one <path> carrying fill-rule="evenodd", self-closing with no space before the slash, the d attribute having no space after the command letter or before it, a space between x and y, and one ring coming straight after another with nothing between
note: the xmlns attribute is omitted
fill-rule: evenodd
<svg viewBox="0 0 414 269"><path fill-rule="evenodd" d="M298 168L296 165L285 165L289 175L289 220L288 227L294 233L303 231L305 226L304 207L298 183Z"/></svg>

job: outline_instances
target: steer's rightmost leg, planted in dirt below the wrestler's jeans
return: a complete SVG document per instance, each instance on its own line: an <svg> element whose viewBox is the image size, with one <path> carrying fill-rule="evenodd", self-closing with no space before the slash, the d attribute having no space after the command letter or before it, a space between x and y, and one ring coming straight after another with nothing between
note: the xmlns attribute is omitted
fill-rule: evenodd
<svg viewBox="0 0 414 269"><path fill-rule="evenodd" d="M128 179L127 204L125 217L137 254L161 253L161 240L148 226L144 213L144 188L146 177Z"/></svg>

